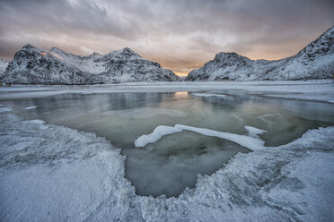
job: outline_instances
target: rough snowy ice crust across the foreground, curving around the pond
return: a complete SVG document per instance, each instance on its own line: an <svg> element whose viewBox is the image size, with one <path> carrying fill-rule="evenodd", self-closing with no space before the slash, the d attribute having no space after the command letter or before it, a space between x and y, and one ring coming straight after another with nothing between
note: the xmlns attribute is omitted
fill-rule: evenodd
<svg viewBox="0 0 334 222"><path fill-rule="evenodd" d="M248 128L250 134L258 133ZM142 197L92 133L0 115L2 221L330 221L334 127L239 153L179 198Z"/></svg>

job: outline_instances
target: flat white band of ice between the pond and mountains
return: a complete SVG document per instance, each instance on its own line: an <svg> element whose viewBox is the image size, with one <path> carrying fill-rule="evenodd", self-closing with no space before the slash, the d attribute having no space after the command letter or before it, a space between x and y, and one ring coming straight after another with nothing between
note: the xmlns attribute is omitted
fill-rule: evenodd
<svg viewBox="0 0 334 222"><path fill-rule="evenodd" d="M205 81L132 82L104 86L12 86L0 88L0 99L40 98L66 93L168 92L192 90L242 90L269 98L309 99L332 102L332 80L317 81ZM235 92L236 92L235 91ZM233 93L233 91L231 91Z"/></svg>

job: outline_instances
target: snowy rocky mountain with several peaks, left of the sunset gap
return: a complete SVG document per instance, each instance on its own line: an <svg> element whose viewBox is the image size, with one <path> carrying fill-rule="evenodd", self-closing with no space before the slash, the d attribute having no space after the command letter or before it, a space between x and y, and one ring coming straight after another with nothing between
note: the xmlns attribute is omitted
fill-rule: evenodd
<svg viewBox="0 0 334 222"><path fill-rule="evenodd" d="M124 81L179 81L180 77L125 47L107 55L80 56L52 47L25 45L0 81L14 84L98 84Z"/></svg>

